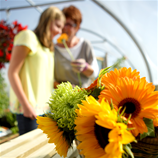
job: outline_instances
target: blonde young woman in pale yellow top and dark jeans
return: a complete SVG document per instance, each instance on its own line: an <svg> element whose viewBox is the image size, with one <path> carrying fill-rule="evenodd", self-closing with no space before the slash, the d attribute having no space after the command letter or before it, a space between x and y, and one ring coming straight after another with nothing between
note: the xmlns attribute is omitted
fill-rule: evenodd
<svg viewBox="0 0 158 158"><path fill-rule="evenodd" d="M17 114L20 135L35 129L36 116L49 110L54 82L52 39L61 33L64 22L63 13L49 7L34 32L25 30L15 36L8 77L10 110Z"/></svg>

